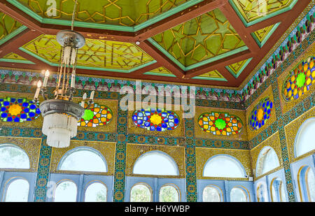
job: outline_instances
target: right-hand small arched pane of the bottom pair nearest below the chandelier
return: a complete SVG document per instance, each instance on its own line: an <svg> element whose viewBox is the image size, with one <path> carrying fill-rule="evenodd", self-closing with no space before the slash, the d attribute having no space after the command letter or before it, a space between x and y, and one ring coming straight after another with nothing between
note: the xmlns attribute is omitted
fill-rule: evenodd
<svg viewBox="0 0 315 216"><path fill-rule="evenodd" d="M85 202L106 202L106 186L95 182L89 185L85 191Z"/></svg>

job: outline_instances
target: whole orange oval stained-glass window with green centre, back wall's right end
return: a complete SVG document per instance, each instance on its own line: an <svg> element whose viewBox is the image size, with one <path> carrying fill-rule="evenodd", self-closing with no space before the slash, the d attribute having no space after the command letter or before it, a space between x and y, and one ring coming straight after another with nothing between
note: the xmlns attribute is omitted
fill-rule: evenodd
<svg viewBox="0 0 315 216"><path fill-rule="evenodd" d="M204 132L223 136L239 134L243 128L243 122L236 115L217 112L202 113L198 117L198 125Z"/></svg>

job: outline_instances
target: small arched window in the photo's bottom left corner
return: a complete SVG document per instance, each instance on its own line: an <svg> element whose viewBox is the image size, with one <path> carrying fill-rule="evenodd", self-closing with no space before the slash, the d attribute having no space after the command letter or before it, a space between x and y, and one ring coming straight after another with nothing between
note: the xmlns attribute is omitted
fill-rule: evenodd
<svg viewBox="0 0 315 216"><path fill-rule="evenodd" d="M5 202L27 202L29 197L29 182L22 178L16 178L8 183Z"/></svg>

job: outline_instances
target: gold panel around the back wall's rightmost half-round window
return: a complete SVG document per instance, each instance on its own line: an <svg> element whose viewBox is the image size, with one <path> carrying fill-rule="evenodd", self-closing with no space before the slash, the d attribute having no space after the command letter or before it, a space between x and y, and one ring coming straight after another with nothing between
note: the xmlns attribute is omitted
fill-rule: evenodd
<svg viewBox="0 0 315 216"><path fill-rule="evenodd" d="M204 165L207 161L217 155L217 154L228 154L235 157L244 166L247 175L252 175L251 173L251 158L249 150L228 150L228 149L217 149L217 148L205 148L196 147L196 167L197 167L197 178L198 179L225 179L217 177L204 177L202 173L204 172ZM226 178L231 180L231 178ZM247 178L232 178L232 180L247 180Z"/></svg>

